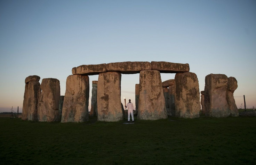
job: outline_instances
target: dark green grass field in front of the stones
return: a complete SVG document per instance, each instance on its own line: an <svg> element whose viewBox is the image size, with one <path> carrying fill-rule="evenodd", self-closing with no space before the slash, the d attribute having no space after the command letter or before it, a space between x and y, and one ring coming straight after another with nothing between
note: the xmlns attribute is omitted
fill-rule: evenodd
<svg viewBox="0 0 256 165"><path fill-rule="evenodd" d="M256 164L256 118L90 123L0 118L0 164Z"/></svg>

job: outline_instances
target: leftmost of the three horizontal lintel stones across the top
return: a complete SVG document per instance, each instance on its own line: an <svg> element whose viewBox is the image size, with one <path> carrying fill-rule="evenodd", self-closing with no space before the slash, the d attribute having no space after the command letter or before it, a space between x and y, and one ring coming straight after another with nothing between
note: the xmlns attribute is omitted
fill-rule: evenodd
<svg viewBox="0 0 256 165"><path fill-rule="evenodd" d="M72 74L96 75L107 71L107 64L80 65L72 68Z"/></svg>

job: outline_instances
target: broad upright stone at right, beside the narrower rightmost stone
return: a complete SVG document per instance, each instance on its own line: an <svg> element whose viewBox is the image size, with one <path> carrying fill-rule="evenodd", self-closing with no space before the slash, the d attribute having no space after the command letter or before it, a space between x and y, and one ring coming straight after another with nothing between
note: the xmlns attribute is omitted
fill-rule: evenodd
<svg viewBox="0 0 256 165"><path fill-rule="evenodd" d="M229 105L226 100L227 76L209 74L205 77L205 116L228 117Z"/></svg>

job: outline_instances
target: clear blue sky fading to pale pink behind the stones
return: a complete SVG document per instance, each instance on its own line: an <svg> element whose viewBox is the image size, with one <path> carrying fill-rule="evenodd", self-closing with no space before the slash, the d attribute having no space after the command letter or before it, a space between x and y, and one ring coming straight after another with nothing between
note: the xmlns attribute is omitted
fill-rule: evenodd
<svg viewBox="0 0 256 165"><path fill-rule="evenodd" d="M208 74L235 77L237 107L256 107L255 18L255 0L0 0L0 111L22 110L27 76L65 95L73 67L126 61L188 63L200 91ZM122 74L123 104L138 83Z"/></svg>

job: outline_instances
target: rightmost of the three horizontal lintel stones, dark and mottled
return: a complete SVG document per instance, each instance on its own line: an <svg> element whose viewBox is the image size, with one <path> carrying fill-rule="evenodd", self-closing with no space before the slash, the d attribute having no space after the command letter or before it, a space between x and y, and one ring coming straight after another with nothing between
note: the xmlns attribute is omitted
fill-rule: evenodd
<svg viewBox="0 0 256 165"><path fill-rule="evenodd" d="M189 64L152 61L151 66L152 70L158 70L160 73L189 72Z"/></svg>

